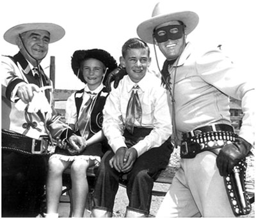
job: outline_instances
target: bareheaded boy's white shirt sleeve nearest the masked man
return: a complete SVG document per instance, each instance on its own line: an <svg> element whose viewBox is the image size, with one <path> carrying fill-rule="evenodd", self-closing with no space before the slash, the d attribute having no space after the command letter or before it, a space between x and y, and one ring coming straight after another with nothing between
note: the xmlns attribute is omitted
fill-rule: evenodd
<svg viewBox="0 0 256 219"><path fill-rule="evenodd" d="M167 103L166 89L160 87L159 84L152 94L154 95L153 130L133 146L138 152L138 156L152 147L161 146L172 135L172 118Z"/></svg>

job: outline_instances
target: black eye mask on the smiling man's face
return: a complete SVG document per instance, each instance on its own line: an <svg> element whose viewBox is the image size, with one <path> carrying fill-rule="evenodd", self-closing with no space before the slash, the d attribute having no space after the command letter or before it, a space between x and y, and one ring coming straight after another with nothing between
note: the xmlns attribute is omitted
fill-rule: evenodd
<svg viewBox="0 0 256 219"><path fill-rule="evenodd" d="M176 33L172 33L172 32L176 32ZM182 38L183 35L184 35L184 26L181 24L159 27L154 31L154 36L156 38L157 43L163 43L169 39L177 40Z"/></svg>

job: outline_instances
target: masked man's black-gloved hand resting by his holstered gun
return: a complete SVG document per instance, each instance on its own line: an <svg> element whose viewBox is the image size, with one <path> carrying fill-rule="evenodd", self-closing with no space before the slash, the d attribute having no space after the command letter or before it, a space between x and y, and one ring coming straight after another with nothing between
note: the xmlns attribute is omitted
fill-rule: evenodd
<svg viewBox="0 0 256 219"><path fill-rule="evenodd" d="M217 167L220 176L227 176L232 172L233 167L248 155L252 144L241 137L237 137L236 142L225 145L217 156Z"/></svg>

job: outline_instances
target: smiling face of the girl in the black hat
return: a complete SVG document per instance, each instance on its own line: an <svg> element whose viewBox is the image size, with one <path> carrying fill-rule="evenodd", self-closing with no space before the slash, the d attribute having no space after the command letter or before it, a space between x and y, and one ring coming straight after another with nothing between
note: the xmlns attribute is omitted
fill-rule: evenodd
<svg viewBox="0 0 256 219"><path fill-rule="evenodd" d="M84 80L90 89L96 89L102 82L105 66L98 59L86 59L81 63Z"/></svg>

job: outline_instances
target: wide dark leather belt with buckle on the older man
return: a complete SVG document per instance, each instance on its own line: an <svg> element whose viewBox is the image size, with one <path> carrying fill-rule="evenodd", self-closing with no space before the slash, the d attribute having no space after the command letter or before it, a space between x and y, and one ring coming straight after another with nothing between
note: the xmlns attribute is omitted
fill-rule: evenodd
<svg viewBox="0 0 256 219"><path fill-rule="evenodd" d="M2 149L15 151L24 155L46 155L49 144L47 135L41 136L40 139L31 139L9 130L2 129Z"/></svg>

